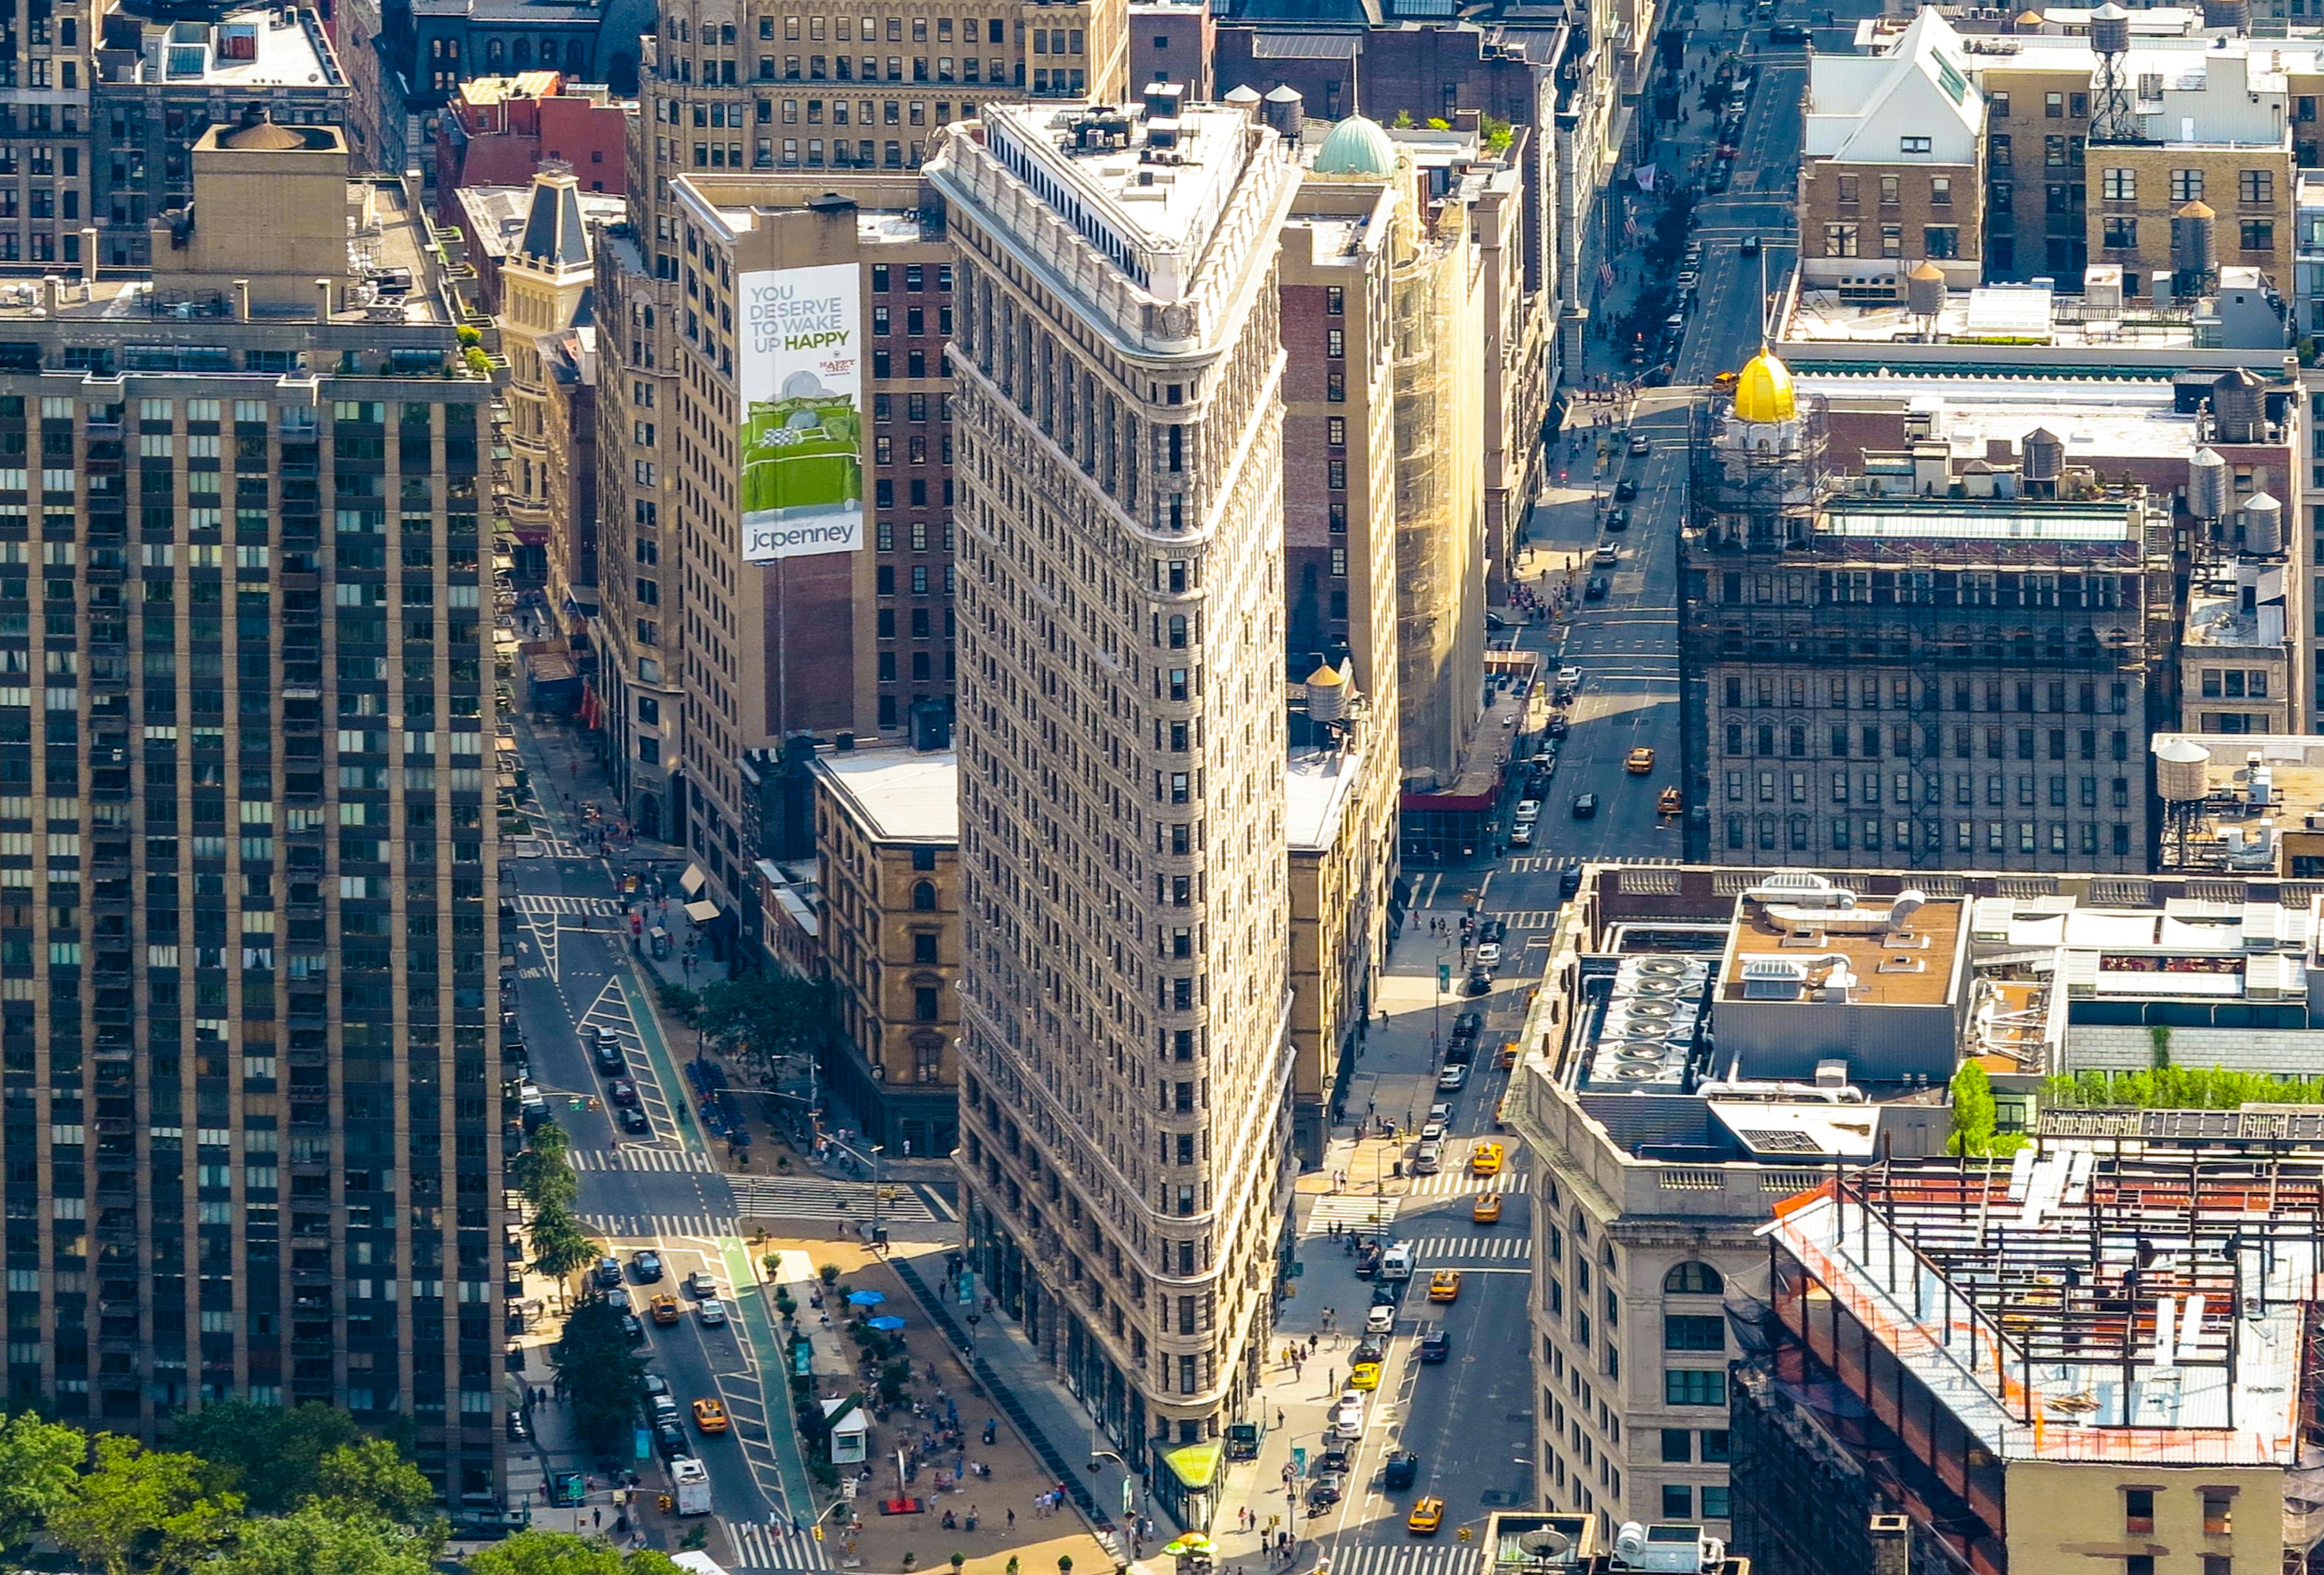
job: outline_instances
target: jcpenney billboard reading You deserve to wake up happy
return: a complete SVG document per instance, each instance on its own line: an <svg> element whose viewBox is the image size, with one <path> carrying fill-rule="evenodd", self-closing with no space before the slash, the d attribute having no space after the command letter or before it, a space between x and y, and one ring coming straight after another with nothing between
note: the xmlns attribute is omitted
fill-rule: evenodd
<svg viewBox="0 0 2324 1575"><path fill-rule="evenodd" d="M865 544L862 295L853 265L737 279L741 558L776 562Z"/></svg>

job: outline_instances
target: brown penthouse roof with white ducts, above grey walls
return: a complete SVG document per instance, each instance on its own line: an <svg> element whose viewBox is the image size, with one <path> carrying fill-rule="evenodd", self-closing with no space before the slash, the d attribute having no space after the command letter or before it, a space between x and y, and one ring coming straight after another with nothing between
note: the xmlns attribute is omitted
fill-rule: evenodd
<svg viewBox="0 0 2324 1575"><path fill-rule="evenodd" d="M1769 876L1736 899L1717 999L1850 1006L1950 999L1961 904L1913 897L1917 892L1859 901L1813 876Z"/></svg>

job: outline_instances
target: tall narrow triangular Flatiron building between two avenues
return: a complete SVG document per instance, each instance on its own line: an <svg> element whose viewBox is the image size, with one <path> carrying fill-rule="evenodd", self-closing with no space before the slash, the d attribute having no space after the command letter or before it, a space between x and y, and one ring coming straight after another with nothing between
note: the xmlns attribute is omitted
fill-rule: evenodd
<svg viewBox="0 0 2324 1575"><path fill-rule="evenodd" d="M1167 160L1167 163L1164 163ZM1162 179L1167 174L1167 179ZM1283 344L1290 144L1169 86L992 107L960 246L969 1257L1206 1522L1290 1166Z"/></svg>

